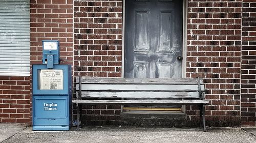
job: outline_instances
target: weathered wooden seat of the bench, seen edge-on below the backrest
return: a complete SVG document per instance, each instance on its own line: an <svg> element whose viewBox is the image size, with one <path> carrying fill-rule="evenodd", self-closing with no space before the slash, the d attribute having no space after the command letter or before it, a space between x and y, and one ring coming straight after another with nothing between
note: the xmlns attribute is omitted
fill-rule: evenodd
<svg viewBox="0 0 256 143"><path fill-rule="evenodd" d="M115 105L191 105L208 104L207 100L73 100L73 103Z"/></svg>

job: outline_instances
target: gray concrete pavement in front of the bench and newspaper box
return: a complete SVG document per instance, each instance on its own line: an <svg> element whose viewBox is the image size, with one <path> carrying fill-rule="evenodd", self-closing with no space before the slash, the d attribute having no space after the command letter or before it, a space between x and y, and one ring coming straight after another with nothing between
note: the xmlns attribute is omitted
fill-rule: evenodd
<svg viewBox="0 0 256 143"><path fill-rule="evenodd" d="M250 131L251 130L251 131ZM32 131L32 127L0 124L0 141L7 142L256 142L256 128L82 128L79 132Z"/></svg>

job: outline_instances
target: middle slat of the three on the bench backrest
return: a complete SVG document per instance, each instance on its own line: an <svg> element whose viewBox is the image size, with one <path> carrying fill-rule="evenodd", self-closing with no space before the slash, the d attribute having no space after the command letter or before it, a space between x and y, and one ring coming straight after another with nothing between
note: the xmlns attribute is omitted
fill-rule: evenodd
<svg viewBox="0 0 256 143"><path fill-rule="evenodd" d="M79 90L79 85L76 86ZM82 84L87 91L198 91L198 84ZM201 85L204 91L204 85Z"/></svg>

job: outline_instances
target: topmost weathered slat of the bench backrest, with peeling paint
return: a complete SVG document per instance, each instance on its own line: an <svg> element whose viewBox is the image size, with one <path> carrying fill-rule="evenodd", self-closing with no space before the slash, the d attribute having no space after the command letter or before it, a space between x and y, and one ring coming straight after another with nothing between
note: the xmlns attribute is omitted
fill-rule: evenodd
<svg viewBox="0 0 256 143"><path fill-rule="evenodd" d="M79 83L79 77L76 78ZM197 78L99 78L99 77L82 77L81 83L118 83L118 84L198 84ZM203 80L200 80L203 83Z"/></svg>

